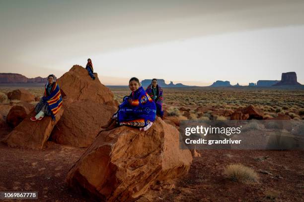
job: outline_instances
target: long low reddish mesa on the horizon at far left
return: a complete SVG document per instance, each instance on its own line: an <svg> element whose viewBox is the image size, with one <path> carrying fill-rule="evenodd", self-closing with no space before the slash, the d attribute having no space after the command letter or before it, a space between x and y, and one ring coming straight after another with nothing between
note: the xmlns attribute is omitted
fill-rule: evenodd
<svg viewBox="0 0 304 202"><path fill-rule="evenodd" d="M22 74L15 73L0 73L0 84L14 84L14 83L46 83L47 78L36 77L27 78Z"/></svg>

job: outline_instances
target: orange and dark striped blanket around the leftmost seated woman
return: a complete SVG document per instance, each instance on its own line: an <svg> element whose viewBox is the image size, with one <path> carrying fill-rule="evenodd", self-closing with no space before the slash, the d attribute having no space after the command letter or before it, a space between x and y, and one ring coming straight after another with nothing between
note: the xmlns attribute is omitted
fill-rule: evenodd
<svg viewBox="0 0 304 202"><path fill-rule="evenodd" d="M48 110L52 112L52 118L55 119L56 114L62 106L62 97L57 82L54 83L50 94L48 94L47 92L47 86L48 83L45 85L44 88L43 101L48 104Z"/></svg>

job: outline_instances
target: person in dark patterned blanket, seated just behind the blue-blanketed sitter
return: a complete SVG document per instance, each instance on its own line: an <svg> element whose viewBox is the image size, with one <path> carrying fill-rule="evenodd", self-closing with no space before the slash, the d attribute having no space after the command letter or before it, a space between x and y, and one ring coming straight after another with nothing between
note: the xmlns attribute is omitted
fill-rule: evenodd
<svg viewBox="0 0 304 202"><path fill-rule="evenodd" d="M149 96L152 98L152 100L156 104L156 114L163 118L163 111L162 111L162 102L163 102L163 96L162 96L162 89L157 84L157 79L152 79L152 83L147 87L146 92L149 94Z"/></svg>

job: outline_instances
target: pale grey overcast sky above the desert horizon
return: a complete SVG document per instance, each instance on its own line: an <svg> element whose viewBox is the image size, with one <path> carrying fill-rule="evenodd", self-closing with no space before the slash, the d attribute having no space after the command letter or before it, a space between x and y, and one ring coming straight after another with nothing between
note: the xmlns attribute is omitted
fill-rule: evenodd
<svg viewBox="0 0 304 202"><path fill-rule="evenodd" d="M0 72L58 78L90 57L103 84L130 77L248 85L297 72L304 0L0 0Z"/></svg>

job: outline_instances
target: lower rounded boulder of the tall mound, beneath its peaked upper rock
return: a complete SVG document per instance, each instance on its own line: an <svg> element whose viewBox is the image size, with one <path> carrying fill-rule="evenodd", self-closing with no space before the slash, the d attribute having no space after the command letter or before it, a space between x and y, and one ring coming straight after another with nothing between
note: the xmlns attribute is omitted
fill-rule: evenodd
<svg viewBox="0 0 304 202"><path fill-rule="evenodd" d="M52 132L52 140L73 147L88 147L116 111L115 106L91 100L64 99L64 115Z"/></svg>

